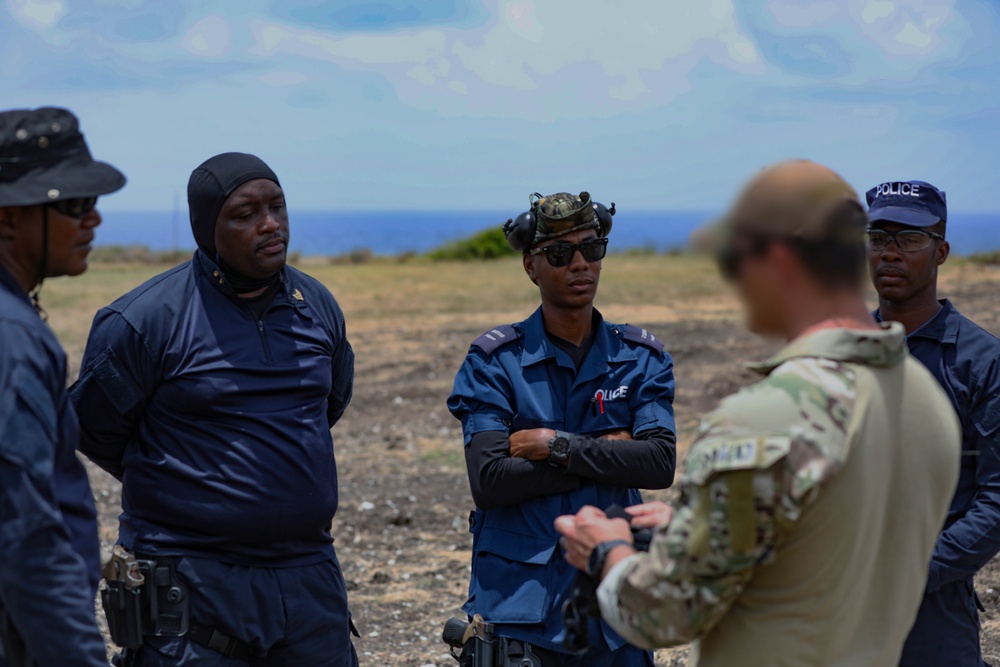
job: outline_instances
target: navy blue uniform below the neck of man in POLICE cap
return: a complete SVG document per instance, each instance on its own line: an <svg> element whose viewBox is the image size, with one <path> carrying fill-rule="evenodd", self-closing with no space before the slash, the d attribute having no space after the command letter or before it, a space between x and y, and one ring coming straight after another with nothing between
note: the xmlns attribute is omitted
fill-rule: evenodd
<svg viewBox="0 0 1000 667"><path fill-rule="evenodd" d="M902 664L978 667L972 579L1000 552L1000 340L943 300L907 345L955 407L962 464Z"/></svg>

